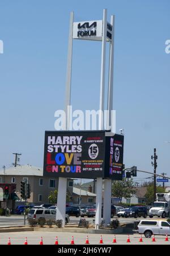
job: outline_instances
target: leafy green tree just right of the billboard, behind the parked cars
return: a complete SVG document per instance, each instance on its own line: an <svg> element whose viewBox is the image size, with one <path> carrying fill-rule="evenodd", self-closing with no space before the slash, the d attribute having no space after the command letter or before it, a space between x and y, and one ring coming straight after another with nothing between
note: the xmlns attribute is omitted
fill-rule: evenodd
<svg viewBox="0 0 170 256"><path fill-rule="evenodd" d="M122 181L114 181L112 184L112 195L117 198L130 198L133 194L135 194L135 184L133 179L122 179Z"/></svg>

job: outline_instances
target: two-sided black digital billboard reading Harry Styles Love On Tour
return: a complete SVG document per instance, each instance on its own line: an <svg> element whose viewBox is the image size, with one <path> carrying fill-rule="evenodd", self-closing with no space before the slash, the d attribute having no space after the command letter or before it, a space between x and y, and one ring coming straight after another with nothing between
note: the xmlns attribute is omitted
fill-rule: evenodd
<svg viewBox="0 0 170 256"><path fill-rule="evenodd" d="M105 131L45 132L44 176L122 179L124 136Z"/></svg>

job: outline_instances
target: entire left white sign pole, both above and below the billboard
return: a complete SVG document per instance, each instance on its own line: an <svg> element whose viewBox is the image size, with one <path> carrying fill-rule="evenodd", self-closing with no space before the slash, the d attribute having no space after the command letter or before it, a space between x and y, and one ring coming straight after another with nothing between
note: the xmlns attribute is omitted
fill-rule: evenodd
<svg viewBox="0 0 170 256"><path fill-rule="evenodd" d="M67 74L66 74L66 93L65 93L65 128L70 129L70 99L71 99L71 69L73 55L73 22L74 12L70 14L70 30L69 30L69 47L67 58ZM66 193L67 193L67 178L58 178L58 195L57 195L57 214L56 220L62 220L62 227L65 226L66 215Z"/></svg>

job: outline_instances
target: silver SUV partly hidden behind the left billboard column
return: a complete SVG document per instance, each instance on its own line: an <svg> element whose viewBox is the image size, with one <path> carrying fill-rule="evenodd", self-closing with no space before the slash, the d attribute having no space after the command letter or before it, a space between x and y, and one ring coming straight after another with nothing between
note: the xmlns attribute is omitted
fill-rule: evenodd
<svg viewBox="0 0 170 256"><path fill-rule="evenodd" d="M34 219L37 220L37 222L39 223L39 221L41 219L46 220L56 220L56 210L54 209L30 209L28 212L28 217L27 219ZM70 219L69 219L69 215L66 215L65 217L65 224L69 223Z"/></svg>

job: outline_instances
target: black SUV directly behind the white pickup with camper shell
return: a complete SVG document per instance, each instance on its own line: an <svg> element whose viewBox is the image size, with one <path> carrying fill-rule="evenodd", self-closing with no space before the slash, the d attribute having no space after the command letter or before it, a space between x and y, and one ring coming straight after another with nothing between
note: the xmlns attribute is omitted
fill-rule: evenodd
<svg viewBox="0 0 170 256"><path fill-rule="evenodd" d="M147 208L144 206L141 206L141 207L134 206L134 207L128 208L125 210L124 216L125 216L125 218L127 218L127 217L134 217L134 218L144 217L144 218L146 218L147 217Z"/></svg>

